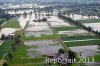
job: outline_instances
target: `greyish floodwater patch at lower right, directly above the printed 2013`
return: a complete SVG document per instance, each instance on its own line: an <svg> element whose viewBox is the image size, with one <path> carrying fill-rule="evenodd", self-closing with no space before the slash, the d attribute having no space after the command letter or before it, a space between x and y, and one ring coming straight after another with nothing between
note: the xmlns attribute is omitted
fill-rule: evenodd
<svg viewBox="0 0 100 66"><path fill-rule="evenodd" d="M100 54L100 49L98 49L98 45L90 45L90 46L76 46L76 47L69 47L72 51L76 52L82 57L87 57L87 56L94 56L96 54ZM99 53L98 53L99 52Z"/></svg>

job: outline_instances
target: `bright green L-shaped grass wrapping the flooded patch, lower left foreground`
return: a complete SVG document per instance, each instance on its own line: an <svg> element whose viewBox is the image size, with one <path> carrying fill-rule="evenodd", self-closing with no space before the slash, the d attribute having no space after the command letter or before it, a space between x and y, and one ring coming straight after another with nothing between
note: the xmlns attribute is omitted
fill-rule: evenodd
<svg viewBox="0 0 100 66"><path fill-rule="evenodd" d="M9 66L30 66L27 64L34 65L35 63L41 63L44 60L43 56L30 58L27 53L29 47L23 44L17 46L16 51L13 53L13 60L9 61Z"/></svg>

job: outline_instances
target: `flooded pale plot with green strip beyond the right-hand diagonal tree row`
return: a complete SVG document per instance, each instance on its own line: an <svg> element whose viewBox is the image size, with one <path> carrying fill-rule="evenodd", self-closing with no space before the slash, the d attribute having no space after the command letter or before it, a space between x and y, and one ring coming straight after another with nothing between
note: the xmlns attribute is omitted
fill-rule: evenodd
<svg viewBox="0 0 100 66"><path fill-rule="evenodd" d="M98 17L97 16L95 16L95 17L90 17L90 18L88 18L88 19L84 19L84 18L82 18L82 19L78 19L78 18L80 18L81 16L79 16L79 15L77 15L77 14L75 14L74 16L73 16L73 18L74 18L74 20L76 20L76 21L79 21L79 22L81 22L81 23L83 23L86 27L92 27L93 28L93 30L94 31L100 31L100 19L98 19ZM84 17L84 16L83 16ZM72 17L71 17L72 18Z"/></svg>

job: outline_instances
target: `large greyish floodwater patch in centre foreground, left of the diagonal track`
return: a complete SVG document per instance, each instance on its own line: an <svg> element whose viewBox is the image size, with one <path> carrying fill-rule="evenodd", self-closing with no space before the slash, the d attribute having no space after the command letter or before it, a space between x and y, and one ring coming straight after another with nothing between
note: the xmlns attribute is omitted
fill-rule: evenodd
<svg viewBox="0 0 100 66"><path fill-rule="evenodd" d="M53 42L52 40L42 40L42 41L28 41L24 43L31 48L27 49L28 55L30 57L35 57L38 55L52 55L58 52L62 46L58 42ZM32 46L37 46L36 48Z"/></svg>

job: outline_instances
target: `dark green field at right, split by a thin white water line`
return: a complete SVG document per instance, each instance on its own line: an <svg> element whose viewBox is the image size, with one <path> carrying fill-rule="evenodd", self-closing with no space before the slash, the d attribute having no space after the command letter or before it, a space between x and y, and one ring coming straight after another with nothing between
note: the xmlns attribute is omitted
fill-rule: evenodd
<svg viewBox="0 0 100 66"><path fill-rule="evenodd" d="M70 33L69 33L70 34ZM79 33L76 35L63 34L60 35L61 39L68 46L85 46L85 45L99 45L100 38L98 36L90 35L89 33Z"/></svg>

